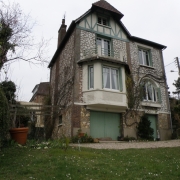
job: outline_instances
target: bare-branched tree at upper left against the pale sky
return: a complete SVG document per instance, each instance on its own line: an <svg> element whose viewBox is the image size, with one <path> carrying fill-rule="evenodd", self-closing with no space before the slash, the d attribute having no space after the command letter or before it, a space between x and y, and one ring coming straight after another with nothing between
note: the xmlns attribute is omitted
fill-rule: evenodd
<svg viewBox="0 0 180 180"><path fill-rule="evenodd" d="M32 34L36 23L17 3L6 4L0 0L0 69L5 63L18 60L33 64L47 63L47 43L36 43Z"/></svg>

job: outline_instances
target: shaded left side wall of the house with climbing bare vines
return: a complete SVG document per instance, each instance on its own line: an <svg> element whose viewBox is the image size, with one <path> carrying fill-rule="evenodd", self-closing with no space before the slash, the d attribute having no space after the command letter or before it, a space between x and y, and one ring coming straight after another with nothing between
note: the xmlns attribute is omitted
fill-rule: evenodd
<svg viewBox="0 0 180 180"><path fill-rule="evenodd" d="M73 79L75 74L75 32L71 34L61 50L56 62L51 68L51 95L52 104L64 106L63 111L56 114L53 137L62 135L71 136L71 118L73 103ZM59 125L59 116L62 115L62 126Z"/></svg>

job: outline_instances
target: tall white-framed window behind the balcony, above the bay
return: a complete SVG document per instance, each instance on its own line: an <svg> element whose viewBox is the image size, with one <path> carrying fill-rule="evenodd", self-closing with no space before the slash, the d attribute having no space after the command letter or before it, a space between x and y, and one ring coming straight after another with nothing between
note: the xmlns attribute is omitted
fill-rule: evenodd
<svg viewBox="0 0 180 180"><path fill-rule="evenodd" d="M99 55L110 56L110 41L103 38L96 39L97 51Z"/></svg>

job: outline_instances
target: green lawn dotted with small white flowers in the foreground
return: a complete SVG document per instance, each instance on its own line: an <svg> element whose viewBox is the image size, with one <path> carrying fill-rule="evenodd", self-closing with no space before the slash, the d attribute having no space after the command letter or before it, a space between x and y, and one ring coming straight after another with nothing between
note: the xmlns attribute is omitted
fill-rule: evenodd
<svg viewBox="0 0 180 180"><path fill-rule="evenodd" d="M180 148L95 150L70 147L0 151L1 180L176 180Z"/></svg>

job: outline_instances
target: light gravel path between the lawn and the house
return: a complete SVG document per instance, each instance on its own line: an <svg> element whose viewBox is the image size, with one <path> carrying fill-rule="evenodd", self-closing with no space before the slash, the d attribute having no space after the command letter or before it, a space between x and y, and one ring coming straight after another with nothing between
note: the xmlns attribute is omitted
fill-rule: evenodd
<svg viewBox="0 0 180 180"><path fill-rule="evenodd" d="M79 144L70 144L77 147ZM143 148L159 148L159 147L180 147L180 140L169 141L150 141L150 142L100 142L80 144L80 147L88 147L94 149L143 149Z"/></svg>

